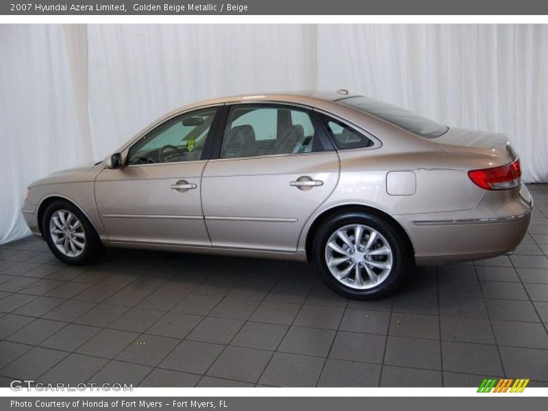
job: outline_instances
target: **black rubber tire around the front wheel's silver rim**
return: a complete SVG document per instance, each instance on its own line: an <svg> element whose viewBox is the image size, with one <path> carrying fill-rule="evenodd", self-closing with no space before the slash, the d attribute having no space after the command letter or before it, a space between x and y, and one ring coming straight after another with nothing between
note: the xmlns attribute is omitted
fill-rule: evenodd
<svg viewBox="0 0 548 411"><path fill-rule="evenodd" d="M70 212L75 216L75 218L79 221L80 225L82 226L82 229L79 230L79 234L84 234L84 247L82 251L79 251L79 254L77 256L69 256L60 251L58 249L58 246L55 245L55 242L53 241L51 230L50 230L50 221L53 214L59 211L66 211ZM55 232L55 230L53 230ZM95 228L91 225L88 218L84 215L83 212L79 210L73 203L70 203L69 201L55 201L51 203L45 210L43 218L42 218L42 234L44 235L44 238L47 242L47 245L53 255L57 257L59 260L66 264L71 265L86 265L90 264L91 262L94 262L99 257L103 245L101 243L101 240L99 239L99 235L95 231Z"/></svg>

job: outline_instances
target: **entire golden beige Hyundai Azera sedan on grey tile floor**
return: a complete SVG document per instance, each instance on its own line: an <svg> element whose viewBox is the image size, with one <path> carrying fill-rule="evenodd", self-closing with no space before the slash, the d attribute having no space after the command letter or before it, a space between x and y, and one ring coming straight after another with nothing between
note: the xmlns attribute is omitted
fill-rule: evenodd
<svg viewBox="0 0 548 411"><path fill-rule="evenodd" d="M346 90L187 105L104 162L34 182L23 206L68 264L102 245L308 260L361 299L411 264L512 251L531 210L506 136Z"/></svg>

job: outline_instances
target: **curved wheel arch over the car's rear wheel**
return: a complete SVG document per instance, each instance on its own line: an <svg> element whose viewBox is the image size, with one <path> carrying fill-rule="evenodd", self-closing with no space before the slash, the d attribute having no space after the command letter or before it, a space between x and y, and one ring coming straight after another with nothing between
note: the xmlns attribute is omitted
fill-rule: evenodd
<svg viewBox="0 0 548 411"><path fill-rule="evenodd" d="M305 250L306 250L306 258L310 262L311 256L312 256L312 242L314 240L314 236L316 235L316 232L318 231L319 227L327 221L332 216L335 216L336 214L342 214L344 212L362 212L364 214L373 214L375 216L378 216L379 218L383 219L384 221L387 221L392 225L398 232L401 234L401 238L403 238L403 241L405 242L406 247L410 250L410 255L408 258L410 258L414 262L414 246L413 242L406 231L405 228L403 228L403 225L401 225L393 216L390 216L390 214L379 210L378 208L374 208L371 206L365 206L364 204L360 203L351 203L351 204L342 204L339 206L334 206L332 208L328 208L327 210L324 210L316 216L314 221L312 222L312 225L310 225L310 228L308 229L308 232L306 233L306 242L305 242Z"/></svg>

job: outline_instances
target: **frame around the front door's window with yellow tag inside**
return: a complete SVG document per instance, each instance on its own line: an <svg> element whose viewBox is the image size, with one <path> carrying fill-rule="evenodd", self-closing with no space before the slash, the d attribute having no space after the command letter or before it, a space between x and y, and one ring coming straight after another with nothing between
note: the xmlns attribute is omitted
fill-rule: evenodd
<svg viewBox="0 0 548 411"><path fill-rule="evenodd" d="M215 116L213 118L213 121L211 122L210 129L208 131L208 135L206 136L206 142L203 145L203 150L201 152L201 156L198 160L190 160L190 161L176 161L176 162L158 162L158 163L150 163L150 164L127 164L129 162L129 151L134 147L134 145L138 144L143 138L146 138L151 132L154 132L156 129L164 126L169 121L172 121L173 119L176 119L177 117L184 116L185 114L189 114L192 112L197 112L201 110L206 110L208 108L216 108L217 111L215 113ZM144 132L142 132L137 138L129 142L129 144L121 151L123 156L123 166L125 167L142 167L142 166L164 166L164 165L173 165L173 164L189 164L194 162L203 162L208 161L211 158L212 153L212 147L214 145L214 139L216 136L216 133L219 131L219 125L221 123L221 114L225 109L225 104L212 104L212 105L202 105L200 107L194 107L190 108L188 110L184 110L182 112L176 112L175 114L162 119L158 121L157 123L154 123L147 129L145 129Z"/></svg>

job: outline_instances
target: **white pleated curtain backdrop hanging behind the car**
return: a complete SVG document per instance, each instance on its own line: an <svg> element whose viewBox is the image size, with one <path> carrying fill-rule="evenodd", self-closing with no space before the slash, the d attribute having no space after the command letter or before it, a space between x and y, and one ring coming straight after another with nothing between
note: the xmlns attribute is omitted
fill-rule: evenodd
<svg viewBox="0 0 548 411"><path fill-rule="evenodd" d="M548 182L548 25L1 25L0 243L27 184L101 160L180 105L348 88L510 136Z"/></svg>

